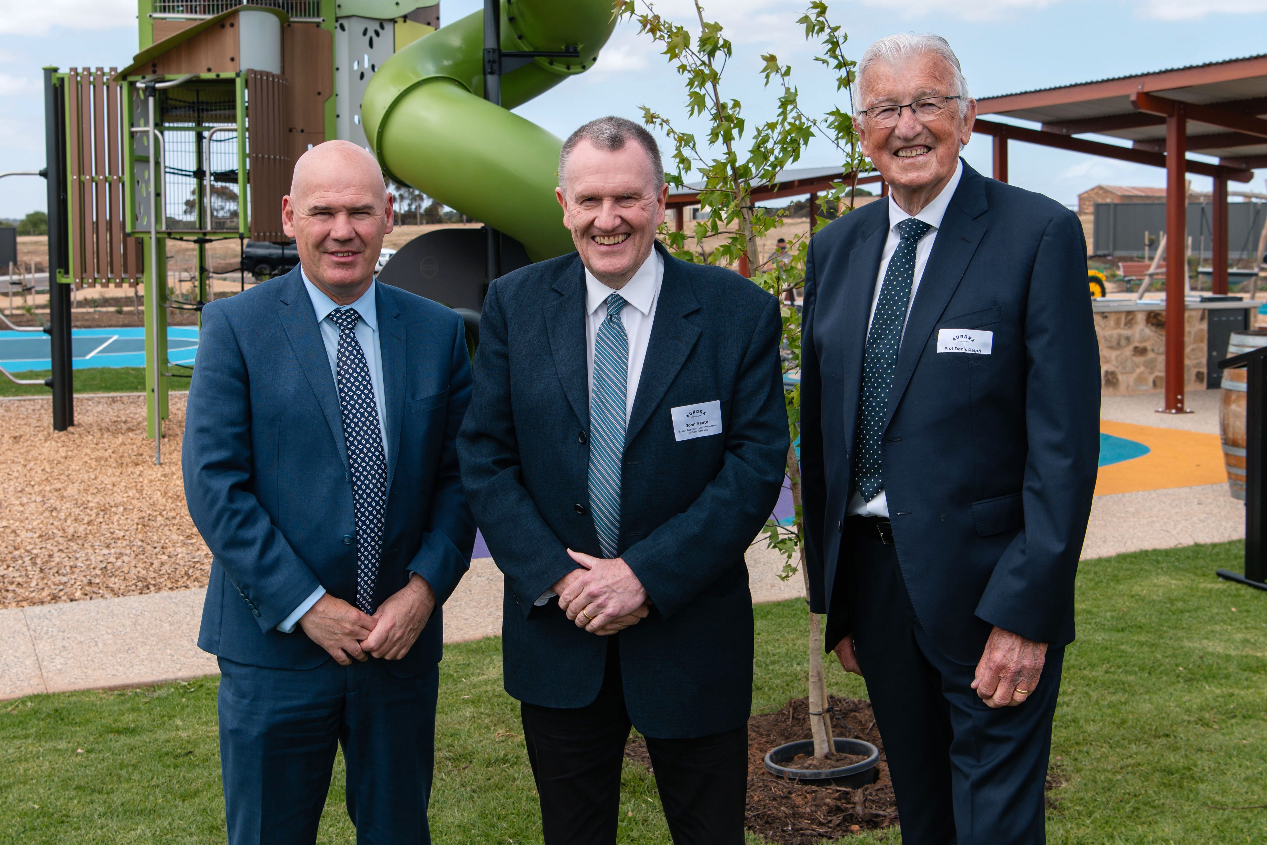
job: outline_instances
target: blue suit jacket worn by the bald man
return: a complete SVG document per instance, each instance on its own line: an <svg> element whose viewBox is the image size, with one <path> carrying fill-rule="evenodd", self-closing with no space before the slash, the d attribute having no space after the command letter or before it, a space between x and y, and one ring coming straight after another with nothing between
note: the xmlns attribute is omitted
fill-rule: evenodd
<svg viewBox="0 0 1267 845"><path fill-rule="evenodd" d="M475 523L457 471L471 379L461 318L374 283L386 394L388 504L375 606L411 573L438 604L470 566ZM199 647L236 663L329 660L276 631L317 585L356 598L356 522L343 422L312 299L295 267L203 309L181 454L185 498L212 550ZM440 660L440 607L398 677Z"/></svg>

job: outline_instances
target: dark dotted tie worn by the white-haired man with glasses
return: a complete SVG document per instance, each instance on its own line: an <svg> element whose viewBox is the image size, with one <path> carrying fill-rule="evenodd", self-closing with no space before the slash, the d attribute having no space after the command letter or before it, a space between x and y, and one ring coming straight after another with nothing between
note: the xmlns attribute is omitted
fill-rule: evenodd
<svg viewBox="0 0 1267 845"><path fill-rule="evenodd" d="M901 241L893 251L893 257L888 260L884 284L879 289L879 302L875 304L875 315L867 334L863 400L858 408L858 447L854 450L854 478L864 502L870 502L884 489L881 456L888 389L893 384L897 351L902 343L906 310L915 284L915 250L920 238L931 228L914 217L897 224Z"/></svg>

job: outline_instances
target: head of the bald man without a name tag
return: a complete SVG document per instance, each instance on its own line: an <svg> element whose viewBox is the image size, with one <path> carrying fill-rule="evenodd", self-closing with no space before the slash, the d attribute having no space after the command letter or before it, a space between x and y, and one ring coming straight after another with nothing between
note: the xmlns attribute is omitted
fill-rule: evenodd
<svg viewBox="0 0 1267 845"><path fill-rule="evenodd" d="M378 162L346 141L305 152L281 200L281 227L295 238L308 280L340 305L356 302L392 231L392 194Z"/></svg>

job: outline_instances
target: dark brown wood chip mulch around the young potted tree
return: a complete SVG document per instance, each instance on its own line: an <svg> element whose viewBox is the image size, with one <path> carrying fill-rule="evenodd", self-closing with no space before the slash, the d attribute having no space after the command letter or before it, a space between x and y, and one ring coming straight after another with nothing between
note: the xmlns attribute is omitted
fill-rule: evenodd
<svg viewBox="0 0 1267 845"><path fill-rule="evenodd" d="M831 697L831 720L836 736L867 740L881 750L879 779L867 787L811 785L775 778L765 770L765 753L784 742L810 739L810 708L805 698L789 701L783 709L748 720L748 818L746 827L778 845L815 845L825 839L897 823L893 785L884 761L884 744L870 703L856 698ZM844 723L841 723L844 722ZM631 739L625 755L651 768L646 742Z"/></svg>

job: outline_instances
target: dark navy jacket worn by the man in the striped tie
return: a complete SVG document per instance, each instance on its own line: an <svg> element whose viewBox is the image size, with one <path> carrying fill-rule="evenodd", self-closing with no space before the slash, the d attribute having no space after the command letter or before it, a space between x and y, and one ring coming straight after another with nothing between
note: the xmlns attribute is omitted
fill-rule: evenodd
<svg viewBox="0 0 1267 845"><path fill-rule="evenodd" d="M663 255L626 429L620 540L654 608L617 636L634 725L672 739L748 721L744 551L778 498L788 426L777 300L729 270ZM713 400L723 432L678 442L670 409ZM571 253L489 286L459 437L466 494L506 574L506 689L546 707L589 704L603 680L606 637L569 622L554 599L533 608L576 569L566 549L602 556L588 509L588 431L585 279Z"/></svg>

